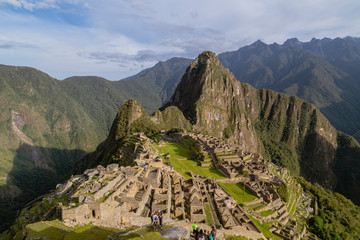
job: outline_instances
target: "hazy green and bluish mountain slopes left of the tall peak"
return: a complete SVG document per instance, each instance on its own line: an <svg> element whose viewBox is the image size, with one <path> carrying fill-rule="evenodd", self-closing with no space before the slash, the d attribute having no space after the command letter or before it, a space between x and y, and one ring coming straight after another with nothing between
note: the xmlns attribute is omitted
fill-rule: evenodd
<svg viewBox="0 0 360 240"><path fill-rule="evenodd" d="M17 207L68 174L75 159L106 138L129 98L139 99L149 112L160 107L189 62L173 58L119 82L99 77L58 81L35 69L1 66L0 204L6 205L1 215L11 218ZM16 197L20 202L8 201Z"/></svg>

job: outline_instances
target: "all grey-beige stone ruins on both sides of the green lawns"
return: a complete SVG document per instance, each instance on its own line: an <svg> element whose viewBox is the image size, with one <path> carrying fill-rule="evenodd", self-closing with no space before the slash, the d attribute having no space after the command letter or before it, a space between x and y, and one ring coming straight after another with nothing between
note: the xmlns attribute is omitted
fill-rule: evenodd
<svg viewBox="0 0 360 240"><path fill-rule="evenodd" d="M137 137L142 144L149 140L142 134ZM290 216L276 191L281 180L269 172L261 155L243 152L235 144L201 134L164 135L163 139L180 142L183 138L196 142L208 156L206 164L214 165L228 181L244 183L258 197L247 204L263 203L266 208L262 211L273 210L269 217L287 224ZM98 166L59 185L56 194L71 199L70 204L59 209L64 221L75 219L76 223L127 228L149 224L151 212L161 210L167 222L207 224L207 207L216 226L263 238L242 207L215 180L192 173L190 179L185 179L144 146L137 153L136 167Z"/></svg>

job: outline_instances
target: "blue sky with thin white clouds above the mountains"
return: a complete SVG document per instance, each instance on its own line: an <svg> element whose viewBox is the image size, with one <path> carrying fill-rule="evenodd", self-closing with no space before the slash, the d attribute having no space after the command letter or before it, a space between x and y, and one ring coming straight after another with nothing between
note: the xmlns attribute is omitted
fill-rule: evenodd
<svg viewBox="0 0 360 240"><path fill-rule="evenodd" d="M120 80L257 40L360 37L358 0L0 0L0 64Z"/></svg>

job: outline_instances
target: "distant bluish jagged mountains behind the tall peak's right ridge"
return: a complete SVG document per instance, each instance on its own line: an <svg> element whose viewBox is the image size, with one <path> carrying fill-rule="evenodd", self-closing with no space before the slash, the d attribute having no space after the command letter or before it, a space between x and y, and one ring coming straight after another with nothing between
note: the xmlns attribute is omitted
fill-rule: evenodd
<svg viewBox="0 0 360 240"><path fill-rule="evenodd" d="M222 53L220 61L240 82L298 96L315 104L339 130L360 129L357 39L289 39L283 45L260 41Z"/></svg>

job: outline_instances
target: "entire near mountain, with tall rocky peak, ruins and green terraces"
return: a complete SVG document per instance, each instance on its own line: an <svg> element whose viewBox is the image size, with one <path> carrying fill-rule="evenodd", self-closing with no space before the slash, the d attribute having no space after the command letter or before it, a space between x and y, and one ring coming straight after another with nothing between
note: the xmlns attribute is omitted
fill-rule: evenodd
<svg viewBox="0 0 360 240"><path fill-rule="evenodd" d="M359 153L314 105L240 83L204 52L154 115L126 102L73 176L1 237L162 239L161 211L185 236L196 224L217 239L358 239L359 207L320 185L358 201Z"/></svg>

